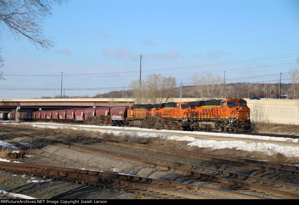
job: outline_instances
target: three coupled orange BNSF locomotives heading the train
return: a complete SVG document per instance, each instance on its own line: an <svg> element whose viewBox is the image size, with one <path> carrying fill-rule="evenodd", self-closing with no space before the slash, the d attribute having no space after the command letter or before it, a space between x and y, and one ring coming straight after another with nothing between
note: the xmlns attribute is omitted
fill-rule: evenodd
<svg viewBox="0 0 299 205"><path fill-rule="evenodd" d="M251 130L250 109L241 98L224 100L132 105L127 113L127 124L138 126L146 116L176 118L186 130Z"/></svg>

